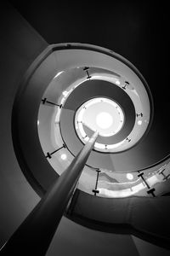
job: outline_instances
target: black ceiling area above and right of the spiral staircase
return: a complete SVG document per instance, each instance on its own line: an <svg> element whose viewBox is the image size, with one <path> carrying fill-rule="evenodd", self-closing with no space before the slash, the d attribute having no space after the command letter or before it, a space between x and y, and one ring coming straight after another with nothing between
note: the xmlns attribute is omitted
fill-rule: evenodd
<svg viewBox="0 0 170 256"><path fill-rule="evenodd" d="M95 44L127 58L154 98L155 146L169 152L168 7L152 1L9 1L48 44ZM153 128L155 130L155 128ZM166 143L167 142L167 143Z"/></svg>

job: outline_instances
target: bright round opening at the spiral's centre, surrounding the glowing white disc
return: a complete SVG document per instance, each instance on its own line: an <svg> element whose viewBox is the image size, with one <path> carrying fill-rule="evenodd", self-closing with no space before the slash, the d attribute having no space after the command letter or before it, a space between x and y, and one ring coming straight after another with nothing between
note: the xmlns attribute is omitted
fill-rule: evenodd
<svg viewBox="0 0 170 256"><path fill-rule="evenodd" d="M111 137L122 129L124 114L120 106L105 97L97 97L82 104L77 110L75 126L80 137L88 139L84 128L99 131L101 137Z"/></svg>

